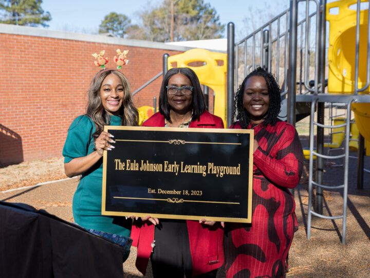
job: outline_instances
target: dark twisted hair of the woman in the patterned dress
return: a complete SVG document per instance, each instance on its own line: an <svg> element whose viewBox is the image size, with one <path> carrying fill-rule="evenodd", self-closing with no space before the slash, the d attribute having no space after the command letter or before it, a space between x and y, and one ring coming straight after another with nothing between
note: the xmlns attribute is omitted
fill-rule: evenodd
<svg viewBox="0 0 370 278"><path fill-rule="evenodd" d="M245 84L247 80L252 76L262 76L267 84L270 106L268 109L268 114L262 125L267 126L268 124L274 125L278 119L278 115L281 109L281 89L279 88L278 82L276 82L275 77L266 72L262 67L257 67L254 71L247 75L243 80L243 83L239 86L238 91L235 95L235 109L236 109L236 119L242 128L247 128L250 123L249 113L243 107L243 94L245 89Z"/></svg>

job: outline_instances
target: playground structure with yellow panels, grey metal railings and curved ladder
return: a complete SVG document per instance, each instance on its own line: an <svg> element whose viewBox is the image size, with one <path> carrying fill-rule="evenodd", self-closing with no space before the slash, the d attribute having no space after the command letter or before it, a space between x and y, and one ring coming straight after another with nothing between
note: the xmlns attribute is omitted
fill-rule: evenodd
<svg viewBox="0 0 370 278"><path fill-rule="evenodd" d="M229 23L227 57L214 58L213 54L199 49L193 49L193 53L200 57L192 57L190 55L192 50L173 58L164 55L163 72L152 79L155 80L165 74L173 62L177 62L177 66L190 66L189 63L195 61L204 62L207 66L213 65L216 70L219 70L218 78L222 81L217 80L220 81L217 83L218 87L214 87L214 112L229 126L234 120L234 93L244 77L256 66L262 66L276 76L282 86L282 112L279 117L293 125L306 116L310 117L309 150L305 150L305 156L309 158L308 239L310 239L313 215L325 219L342 219L341 236L342 243L345 244L349 148L358 149L357 187L363 188L364 138L369 142L366 144L366 154L370 154L368 3L368 0L341 0L328 4L326 0L290 0L288 10L239 42L234 42L234 25ZM301 9L303 12L299 16L298 11ZM314 11L311 12L311 10ZM330 24L327 81L325 79L326 20ZM223 60L224 64L219 66L215 63L216 60ZM192 68L198 74L200 83L212 88L216 84L212 83L214 80L208 75L209 70L206 70L206 65ZM223 83L225 67L227 68L226 98L222 91L225 88L225 83ZM196 71L197 68L200 70L199 73ZM203 73L204 76L202 76ZM326 83L327 92L325 92ZM331 117L331 124L325 125L325 104L332 106L334 103L342 103L345 113L340 117ZM156 111L155 105L154 111ZM351 121L352 111L355 114L356 124ZM317 113L316 120L315 113ZM315 126L317 127L316 133ZM324 143L325 128L330 129L332 134L331 142L326 145ZM350 132L352 132L352 140ZM340 148L341 145L342 148ZM331 150L341 149L343 153L325 155L324 147L331 148ZM335 186L324 184L324 159L343 159L343 184ZM313 160L316 160L315 180L313 179ZM326 175L330 175L330 172L326 172ZM311 207L314 186L316 187L315 211ZM342 215L325 216L323 214L323 189L343 190Z"/></svg>

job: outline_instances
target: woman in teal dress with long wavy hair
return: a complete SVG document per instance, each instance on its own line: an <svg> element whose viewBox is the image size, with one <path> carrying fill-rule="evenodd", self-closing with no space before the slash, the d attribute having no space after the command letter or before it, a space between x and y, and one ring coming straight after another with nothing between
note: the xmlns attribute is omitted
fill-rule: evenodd
<svg viewBox="0 0 370 278"><path fill-rule="evenodd" d="M101 215L103 151L114 148L104 125L137 126L130 84L117 70L102 70L91 81L86 114L73 120L63 148L68 177L81 175L73 196L73 218L88 230L130 236L132 220Z"/></svg>

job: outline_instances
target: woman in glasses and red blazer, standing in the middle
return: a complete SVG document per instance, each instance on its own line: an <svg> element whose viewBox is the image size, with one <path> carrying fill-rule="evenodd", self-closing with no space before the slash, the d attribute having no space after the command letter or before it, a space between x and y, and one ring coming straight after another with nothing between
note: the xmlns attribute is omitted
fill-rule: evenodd
<svg viewBox="0 0 370 278"><path fill-rule="evenodd" d="M205 110L198 77L190 68L172 68L164 76L159 112L146 127L224 128L220 117ZM145 217L134 221L136 267L145 274L151 259L155 278L216 277L224 264L224 231L219 222Z"/></svg>

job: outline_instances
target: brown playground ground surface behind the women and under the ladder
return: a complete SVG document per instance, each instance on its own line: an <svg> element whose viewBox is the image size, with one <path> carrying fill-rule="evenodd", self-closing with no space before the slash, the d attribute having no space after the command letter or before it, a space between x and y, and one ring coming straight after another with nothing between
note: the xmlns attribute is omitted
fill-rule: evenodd
<svg viewBox="0 0 370 278"><path fill-rule="evenodd" d="M302 144L308 145L302 138ZM356 152L350 155L357 156ZM324 184L343 183L341 160L325 163ZM308 161L304 175L294 190L299 230L294 235L289 252L287 277L369 277L370 276L370 173L364 173L363 189L357 189L357 160L350 159L348 172L348 200L345 245L342 244L342 219L312 218L311 238L307 239ZM370 168L370 157L365 157L365 168ZM48 169L48 170L46 170ZM21 186L64 179L63 159L55 158L39 162L25 162L0 169L0 200L23 202L43 208L67 221L73 221L72 196L78 179L67 179L24 189ZM313 195L313 203L315 195ZM343 214L343 190L325 190L323 214ZM125 277L142 277L135 267L136 249L123 265ZM152 277L151 268L147 275ZM218 277L225 277L224 268Z"/></svg>

